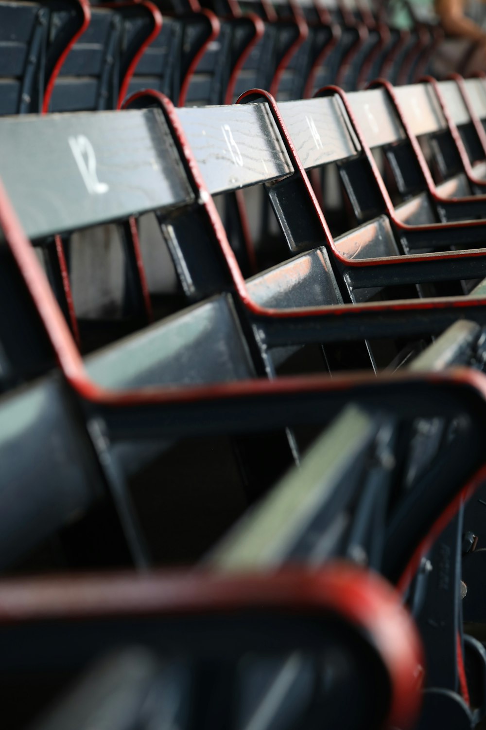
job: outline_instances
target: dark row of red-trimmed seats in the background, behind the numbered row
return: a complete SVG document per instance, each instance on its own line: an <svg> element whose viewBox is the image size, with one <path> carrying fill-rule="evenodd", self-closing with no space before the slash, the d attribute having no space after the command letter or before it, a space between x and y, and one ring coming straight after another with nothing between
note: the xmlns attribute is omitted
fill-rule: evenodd
<svg viewBox="0 0 486 730"><path fill-rule="evenodd" d="M2 0L0 115L116 109L144 88L200 105L231 103L248 88L284 100L334 82L412 82L439 32L418 21L393 28L385 4L207 3Z"/></svg>

